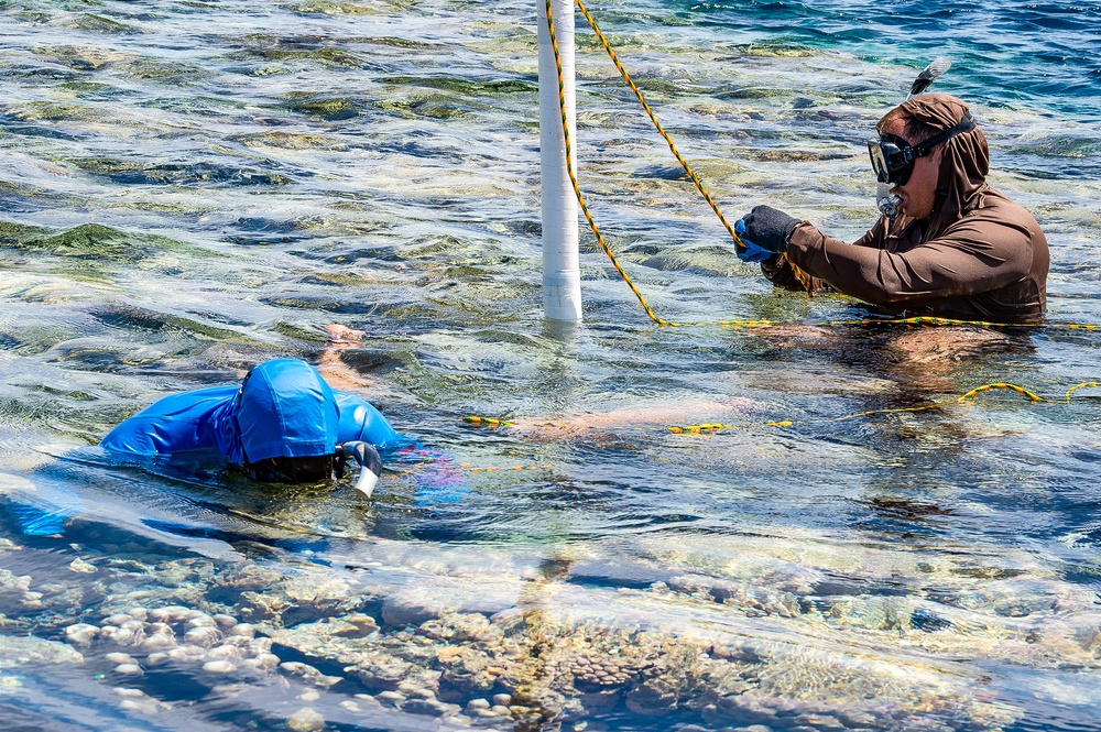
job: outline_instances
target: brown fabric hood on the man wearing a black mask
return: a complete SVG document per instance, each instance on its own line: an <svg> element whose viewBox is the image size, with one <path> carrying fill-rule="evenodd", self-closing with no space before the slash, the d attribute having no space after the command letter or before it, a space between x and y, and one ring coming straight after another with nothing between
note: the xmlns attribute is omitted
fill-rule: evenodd
<svg viewBox="0 0 1101 732"><path fill-rule="evenodd" d="M956 127L968 113L963 101L947 94L918 95L898 108L906 117L935 129L936 133ZM964 212L979 207L988 190L990 150L980 128L957 134L941 148L944 155L937 182L937 201L929 215L925 239L935 239Z"/></svg>

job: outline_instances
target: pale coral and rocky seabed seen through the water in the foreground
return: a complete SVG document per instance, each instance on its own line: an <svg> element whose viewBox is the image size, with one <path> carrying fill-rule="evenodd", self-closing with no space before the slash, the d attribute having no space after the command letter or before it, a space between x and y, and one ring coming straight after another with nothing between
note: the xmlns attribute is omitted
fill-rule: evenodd
<svg viewBox="0 0 1101 732"><path fill-rule="evenodd" d="M778 564L770 589L700 573L609 589L524 562L459 570L424 547L412 560L400 543L388 559L385 546L353 570L96 557L72 560L73 581L0 570L4 665L18 679L24 665L84 664L122 710L157 715L195 703L156 691L184 674L208 697L262 695L273 729L598 730L625 709L753 732L999 730L1020 710L961 654L1101 666L1087 599L1037 578L974 583L930 623L926 601L815 598L805 568ZM1001 604L977 612L984 591Z"/></svg>

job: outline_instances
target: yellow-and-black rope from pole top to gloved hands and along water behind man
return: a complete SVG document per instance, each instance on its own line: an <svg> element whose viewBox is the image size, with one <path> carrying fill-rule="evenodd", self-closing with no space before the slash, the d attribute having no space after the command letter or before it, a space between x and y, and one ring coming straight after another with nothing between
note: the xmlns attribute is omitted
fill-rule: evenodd
<svg viewBox="0 0 1101 732"><path fill-rule="evenodd" d="M596 34L596 36L600 41L601 45L603 45L604 51L608 52L608 55L612 59L612 63L615 64L615 68L619 70L620 76L622 76L623 80L626 81L628 86L631 87L631 90L634 92L634 96L637 98L639 103L642 105L642 108L646 111L646 114L650 117L650 120L653 122L654 127L657 129L657 132L662 135L662 138L668 144L669 150L673 152L673 155L676 157L677 162L680 163L680 166L684 168L685 173L688 174L688 177L691 178L691 182L694 184L696 184L696 188L704 196L704 199L711 207L711 210L713 210L715 214L716 214L716 216L719 217L719 220L722 222L722 226L727 229L727 232L733 239L734 245L737 248L739 248L739 249L744 249L745 244L742 242L741 238L734 231L733 227L730 226L730 222L727 221L727 218L722 215L722 211L719 210L718 204L716 204L715 199L707 192L707 188L704 186L702 181L700 181L699 176L697 176L696 173L695 173L695 171L691 170L691 166L688 164L688 162L677 151L677 146L676 146L676 143L673 141L673 138L669 136L669 134L665 131L665 128L662 127L662 123L658 122L657 116L654 114L654 111L650 108L650 105L646 102L645 98L642 96L642 91L639 89L637 85L635 85L635 83L631 79L631 75L628 74L626 69L623 67L623 64L620 63L619 57L615 55L615 52L612 50L611 44L608 43L608 39L604 37L604 34L600 31L600 28L597 25L597 22L592 18L592 14L589 12L588 8L585 7L585 3L581 0L574 0L574 1L577 4L577 7L580 9L581 13L585 15L585 19L589 22L589 25L592 28L592 32ZM570 181L570 183L574 186L574 194L577 196L577 203L578 203L578 205L581 208L581 212L585 214L585 220L588 221L589 229L592 230L593 236L596 236L596 238L597 238L597 243L600 245L600 249L608 256L608 259L611 262L612 266L615 267L615 271L619 273L620 277L626 284L626 286L631 288L632 293L634 293L634 296L639 299L639 303L642 305L643 310L646 312L646 316L652 321L656 323L657 325L669 327L669 328L697 328L697 327L716 327L716 326L719 326L719 327L730 327L730 328L752 328L752 327L772 327L772 326L789 325L789 324L784 324L784 323L781 323L781 321L777 321L777 320L713 320L713 321L706 321L706 323L678 323L678 321L675 321L675 320L666 320L665 318L659 317L656 313L654 313L653 308L650 307L650 304L646 302L646 298L643 296L642 292L639 289L637 286L635 286L634 282L628 275L626 271L619 263L619 260L615 258L615 254L612 252L611 247L609 247L608 242L604 241L603 234L600 233L600 228L597 226L596 220L592 218L592 214L589 211L589 207L588 207L588 204L585 200L585 196L581 194L581 187L580 187L580 185L577 182L577 175L576 175L576 172L574 171L574 163L573 163L573 160L571 160L573 156L570 155L570 151L573 149L573 142L570 141L570 136L569 136L569 121L568 121L568 117L566 114L566 85L565 85L565 79L563 77L562 57L560 57L559 52L558 52L558 41L557 41L557 37L555 35L555 30L554 30L554 18L553 18L553 14L552 14L552 11L550 11L550 0L546 0L546 10L547 10L547 30L548 30L549 35L550 35L550 46L552 46L552 48L554 51L555 65L557 67L557 72L558 72L558 106L559 106L559 109L560 109L560 112L562 112L562 131L563 131L564 141L565 141L565 149L566 149L566 172L569 174L569 181ZM794 263L792 264L792 267L793 267L793 271L795 273L795 276L799 280L799 282L804 285L804 287L806 287L807 291L809 292L810 291L810 285L809 285L809 280L808 280L807 275L802 270L799 270L797 266L795 266ZM939 318L939 317L933 317L933 316L917 316L917 317L908 317L908 318L884 318L884 319L869 318L869 319L863 319L863 320L822 320L822 321L819 321L816 325L820 325L820 326L847 326L847 325L848 326L858 326L858 325L859 326L869 326L869 325L975 326L975 327L981 327L981 328L1036 328L1036 327L1046 327L1046 328L1066 328L1066 329L1071 329L1071 330L1101 330L1101 326L1091 325L1091 324L1079 324L1079 323L1048 323L1048 324L1033 324L1033 325L1028 325L1028 324L1021 324L1021 323L988 323L988 321L983 321L983 320L957 320L957 319L952 319L952 318Z"/></svg>

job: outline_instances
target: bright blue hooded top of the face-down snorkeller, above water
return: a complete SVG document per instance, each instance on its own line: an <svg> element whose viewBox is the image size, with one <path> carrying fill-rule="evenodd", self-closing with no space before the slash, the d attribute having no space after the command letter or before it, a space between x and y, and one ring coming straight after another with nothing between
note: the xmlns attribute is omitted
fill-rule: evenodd
<svg viewBox="0 0 1101 732"><path fill-rule="evenodd" d="M255 365L240 386L173 394L118 425L100 441L122 456L217 450L230 462L331 455L362 440L393 447L399 435L366 401L329 387L298 359Z"/></svg>

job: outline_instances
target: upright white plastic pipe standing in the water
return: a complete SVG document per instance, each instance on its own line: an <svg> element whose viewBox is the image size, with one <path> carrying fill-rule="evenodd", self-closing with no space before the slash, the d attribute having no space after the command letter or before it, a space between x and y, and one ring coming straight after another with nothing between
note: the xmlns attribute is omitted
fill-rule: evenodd
<svg viewBox="0 0 1101 732"><path fill-rule="evenodd" d="M543 313L552 320L581 319L581 270L577 260L577 197L566 171L566 141L558 103L558 68L547 31L546 0L538 6L539 170L543 182ZM570 146L577 146L574 95L574 0L550 0ZM570 150L577 173L577 159Z"/></svg>

